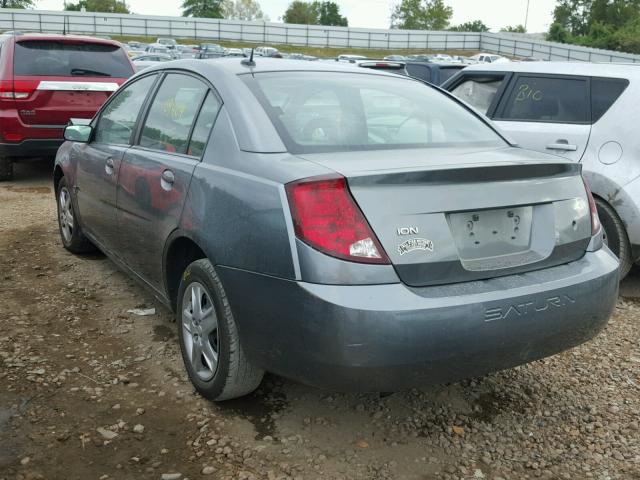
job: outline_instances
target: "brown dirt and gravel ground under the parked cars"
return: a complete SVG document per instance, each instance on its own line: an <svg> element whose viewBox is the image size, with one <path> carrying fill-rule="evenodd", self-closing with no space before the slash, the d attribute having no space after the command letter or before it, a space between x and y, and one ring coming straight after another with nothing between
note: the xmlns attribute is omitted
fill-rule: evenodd
<svg viewBox="0 0 640 480"><path fill-rule="evenodd" d="M0 184L0 479L640 479L637 272L606 330L551 359L392 395L267 376L215 405L170 313L62 249L49 175Z"/></svg>

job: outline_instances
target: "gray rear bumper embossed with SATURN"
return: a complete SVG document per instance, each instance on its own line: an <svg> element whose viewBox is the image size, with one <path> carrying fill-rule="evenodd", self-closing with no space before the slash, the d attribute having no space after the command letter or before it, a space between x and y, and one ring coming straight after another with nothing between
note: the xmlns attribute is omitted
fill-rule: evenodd
<svg viewBox="0 0 640 480"><path fill-rule="evenodd" d="M219 271L252 361L341 391L451 382L553 355L593 338L618 292L606 248L545 270L424 288Z"/></svg>

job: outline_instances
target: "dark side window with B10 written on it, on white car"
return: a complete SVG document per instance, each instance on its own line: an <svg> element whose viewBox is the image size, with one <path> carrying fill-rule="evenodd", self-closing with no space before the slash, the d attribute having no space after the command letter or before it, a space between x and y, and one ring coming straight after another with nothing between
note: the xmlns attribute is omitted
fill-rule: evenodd
<svg viewBox="0 0 640 480"><path fill-rule="evenodd" d="M520 76L505 101L505 120L587 123L589 89L586 79Z"/></svg>

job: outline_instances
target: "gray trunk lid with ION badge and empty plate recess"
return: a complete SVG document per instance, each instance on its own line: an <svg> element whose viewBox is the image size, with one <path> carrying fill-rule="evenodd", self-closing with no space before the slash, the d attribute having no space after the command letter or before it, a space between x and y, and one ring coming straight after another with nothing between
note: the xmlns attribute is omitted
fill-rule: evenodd
<svg viewBox="0 0 640 480"><path fill-rule="evenodd" d="M566 263L591 237L580 166L514 148L304 155L345 176L410 286ZM392 161L390 161L392 159Z"/></svg>

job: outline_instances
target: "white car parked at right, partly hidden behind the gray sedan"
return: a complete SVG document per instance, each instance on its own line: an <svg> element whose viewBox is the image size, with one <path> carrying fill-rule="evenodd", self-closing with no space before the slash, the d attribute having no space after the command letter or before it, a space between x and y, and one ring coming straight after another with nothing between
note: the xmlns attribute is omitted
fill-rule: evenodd
<svg viewBox="0 0 640 480"><path fill-rule="evenodd" d="M582 164L620 276L640 263L640 68L581 62L472 65L443 88L521 147Z"/></svg>

